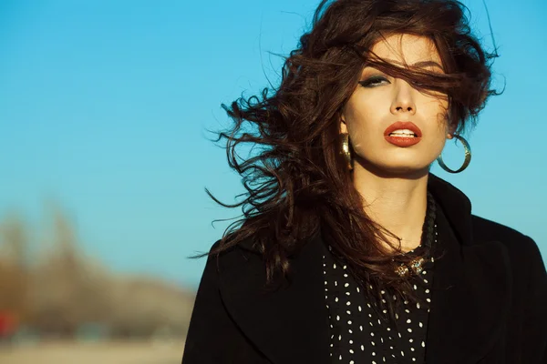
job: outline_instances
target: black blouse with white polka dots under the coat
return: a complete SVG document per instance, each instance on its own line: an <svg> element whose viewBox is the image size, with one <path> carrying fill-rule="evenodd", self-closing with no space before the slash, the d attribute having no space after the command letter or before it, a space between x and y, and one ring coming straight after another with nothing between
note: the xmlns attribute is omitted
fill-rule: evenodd
<svg viewBox="0 0 547 364"><path fill-rule="evenodd" d="M426 263L419 277L409 278L422 303L405 300L398 306L393 324L380 318L374 309L376 300L366 298L366 290L331 251L328 247L323 257L331 362L424 363L433 263ZM387 295L385 291L381 294Z"/></svg>

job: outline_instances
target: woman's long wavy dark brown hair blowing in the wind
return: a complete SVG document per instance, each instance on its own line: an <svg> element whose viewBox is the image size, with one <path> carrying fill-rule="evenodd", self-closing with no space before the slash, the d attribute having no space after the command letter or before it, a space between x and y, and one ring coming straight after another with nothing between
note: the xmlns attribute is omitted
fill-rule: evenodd
<svg viewBox="0 0 547 364"><path fill-rule="evenodd" d="M361 71L374 66L427 93L448 96L447 116L463 131L491 95L493 57L470 31L468 9L455 0L323 0L311 31L284 60L280 85L222 105L233 120L219 133L230 166L243 177L243 217L226 228L218 254L250 239L267 278L290 277L290 258L319 231L365 287L408 291L395 273L405 260L363 209L341 154L342 107ZM437 46L445 73L396 66L370 51L383 36L422 35ZM252 146L249 157L236 149ZM393 248L387 250L387 246ZM398 257L396 262L392 258ZM401 257L402 256L402 257ZM391 303L389 305L391 308ZM390 309L391 310L391 309Z"/></svg>

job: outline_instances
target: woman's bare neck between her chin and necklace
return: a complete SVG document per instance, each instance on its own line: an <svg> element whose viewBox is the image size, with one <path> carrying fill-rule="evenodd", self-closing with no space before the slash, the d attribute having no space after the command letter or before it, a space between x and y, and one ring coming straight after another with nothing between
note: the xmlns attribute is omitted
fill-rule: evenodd
<svg viewBox="0 0 547 364"><path fill-rule="evenodd" d="M403 251L417 248L428 207L428 171L387 176L356 165L353 173L368 217L401 238ZM397 238L387 238L398 246Z"/></svg>

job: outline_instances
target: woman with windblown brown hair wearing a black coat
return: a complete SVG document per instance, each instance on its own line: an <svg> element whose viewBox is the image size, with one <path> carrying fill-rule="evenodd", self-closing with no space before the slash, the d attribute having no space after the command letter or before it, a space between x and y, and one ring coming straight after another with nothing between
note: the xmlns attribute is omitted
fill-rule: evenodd
<svg viewBox="0 0 547 364"><path fill-rule="evenodd" d="M279 88L225 107L248 194L183 363L547 362L536 244L429 173L447 139L469 164L492 57L453 0L323 1Z"/></svg>

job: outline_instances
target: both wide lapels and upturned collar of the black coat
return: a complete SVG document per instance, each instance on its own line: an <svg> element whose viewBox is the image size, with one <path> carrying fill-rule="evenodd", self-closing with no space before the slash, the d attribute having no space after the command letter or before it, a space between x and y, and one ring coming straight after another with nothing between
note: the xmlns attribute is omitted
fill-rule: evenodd
<svg viewBox="0 0 547 364"><path fill-rule="evenodd" d="M470 200L429 176L438 205L441 249L436 255L428 321L427 362L474 363L495 344L511 301L509 258L496 241L475 242ZM220 289L232 319L274 364L329 362L320 235L292 260L292 280L265 290L259 255L236 249L222 259Z"/></svg>

